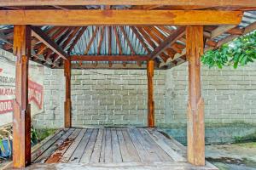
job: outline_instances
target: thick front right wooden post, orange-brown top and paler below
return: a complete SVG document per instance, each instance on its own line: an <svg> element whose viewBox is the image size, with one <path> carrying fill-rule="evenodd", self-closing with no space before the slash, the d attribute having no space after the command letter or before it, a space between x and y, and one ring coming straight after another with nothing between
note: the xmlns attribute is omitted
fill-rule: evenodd
<svg viewBox="0 0 256 170"><path fill-rule="evenodd" d="M204 101L201 97L201 55L203 26L187 26L187 59L189 60L188 161L205 165Z"/></svg>

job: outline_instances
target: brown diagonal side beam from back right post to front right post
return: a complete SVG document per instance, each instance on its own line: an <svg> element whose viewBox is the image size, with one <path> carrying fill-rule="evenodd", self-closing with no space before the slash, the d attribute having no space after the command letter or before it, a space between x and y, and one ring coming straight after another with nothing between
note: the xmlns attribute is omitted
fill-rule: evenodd
<svg viewBox="0 0 256 170"><path fill-rule="evenodd" d="M154 59L166 48L169 48L173 43L175 43L180 37L185 34L185 27L180 27L176 31L173 31L172 35L167 37L165 41L161 42L160 45L154 49L154 51L149 55L150 59Z"/></svg>

